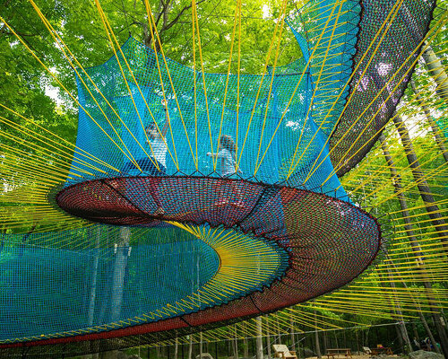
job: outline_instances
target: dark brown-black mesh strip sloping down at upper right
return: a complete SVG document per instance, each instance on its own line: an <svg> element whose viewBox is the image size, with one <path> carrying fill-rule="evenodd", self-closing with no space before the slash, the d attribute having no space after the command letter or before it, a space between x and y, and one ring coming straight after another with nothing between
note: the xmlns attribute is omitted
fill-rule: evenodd
<svg viewBox="0 0 448 359"><path fill-rule="evenodd" d="M366 0L361 4L356 71L349 83L347 109L330 143L338 175L364 158L391 118L420 57L436 1Z"/></svg>

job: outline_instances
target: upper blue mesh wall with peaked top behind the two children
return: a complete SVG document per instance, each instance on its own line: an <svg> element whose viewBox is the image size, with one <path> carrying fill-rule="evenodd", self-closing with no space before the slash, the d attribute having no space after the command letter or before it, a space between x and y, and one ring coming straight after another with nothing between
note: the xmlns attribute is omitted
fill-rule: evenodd
<svg viewBox="0 0 448 359"><path fill-rule="evenodd" d="M122 51L132 72L125 66L121 52L117 52L118 61L111 57L104 65L88 70L92 79L100 77L100 91L104 97L87 75L78 78L82 109L77 146L124 175L140 175L144 173L129 163L133 159L139 161L152 156L144 128L153 120L159 129L165 124L162 85L156 54L150 48L130 38ZM241 171L238 177L264 183L281 183L289 179L292 186L301 186L306 180L306 188L345 196L339 180L332 176L330 161L321 165L313 176L306 177L321 150L328 150L324 145L327 136L314 121L314 111L306 119L314 88L310 75L299 82L305 65L303 60L280 67L273 76L272 86L272 69L265 76L240 75L238 102L237 75L229 76L225 95L226 74L203 74L202 78L202 73L194 73L169 59L167 71L163 58L158 56L170 118L166 136L169 175L220 176L220 161L214 171L213 161L206 153L216 153L220 135L228 135L237 145ZM295 96L287 109L294 89ZM98 169L88 168L85 162ZM133 169L129 170L130 167ZM78 153L75 153L72 171L82 174L76 181L117 174L107 165L93 163ZM330 180L326 180L327 177ZM324 187L320 188L324 180Z"/></svg>

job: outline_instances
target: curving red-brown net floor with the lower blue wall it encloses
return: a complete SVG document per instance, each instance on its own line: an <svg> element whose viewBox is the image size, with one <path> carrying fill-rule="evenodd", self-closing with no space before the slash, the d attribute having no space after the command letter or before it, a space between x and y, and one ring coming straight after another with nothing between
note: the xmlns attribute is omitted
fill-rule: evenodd
<svg viewBox="0 0 448 359"><path fill-rule="evenodd" d="M19 355L26 350L31 356L42 352L56 356L59 350L72 354L108 350L276 311L345 285L371 263L379 249L379 227L370 215L346 202L297 188L200 177L134 177L92 181L89 191L84 190L85 183L76 184L65 188L57 200L73 215L95 221L153 226L159 223L152 216L154 202L148 196L154 180L163 193L166 221L209 223L201 241L185 234L186 227L180 230L166 224L161 229L115 229L115 236L122 240L111 247L106 240L95 240L98 234L90 230L89 238L59 241L56 253L64 258L56 258L48 249L30 250L31 255L28 249L36 240L30 238L21 246L22 256L31 263L39 254L46 260L40 259L41 265L31 271L25 285L13 280L21 275L20 267L14 265L20 250L12 245L12 255L3 257L2 263L11 271L11 291L34 299L27 311L10 307L20 324L4 328L4 334L14 337L14 329L21 330L38 318L48 328L39 321L39 337L3 340L8 353L17 350ZM213 203L211 198L229 188L245 198L244 205L237 197L228 197L225 204ZM218 228L220 235L211 238L208 225ZM159 241L151 243L144 231L159 231ZM233 240L229 235L235 236ZM62 250L76 240L90 241L90 249ZM20 237L15 241L23 242ZM247 258L253 263L247 264ZM235 266L238 273L246 273L244 290L240 282L234 285L235 273L226 272ZM61 272L67 278L67 284L60 285L62 291L53 285ZM93 302L92 291L99 295ZM37 305L40 302L46 305ZM71 316L63 319L62 312ZM132 317L135 313L139 314ZM89 319L91 326L86 325ZM36 329L28 330L31 334Z"/></svg>

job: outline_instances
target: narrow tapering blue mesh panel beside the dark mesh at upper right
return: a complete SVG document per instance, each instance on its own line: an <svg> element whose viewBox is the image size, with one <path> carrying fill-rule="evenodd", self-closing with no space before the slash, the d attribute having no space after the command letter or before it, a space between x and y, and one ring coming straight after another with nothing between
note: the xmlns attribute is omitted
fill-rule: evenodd
<svg viewBox="0 0 448 359"><path fill-rule="evenodd" d="M357 0L337 3L315 0L289 15L289 27L302 50L310 96L310 118L331 135L349 94L361 5ZM296 67L295 63L289 66ZM339 100L337 100L339 96Z"/></svg>

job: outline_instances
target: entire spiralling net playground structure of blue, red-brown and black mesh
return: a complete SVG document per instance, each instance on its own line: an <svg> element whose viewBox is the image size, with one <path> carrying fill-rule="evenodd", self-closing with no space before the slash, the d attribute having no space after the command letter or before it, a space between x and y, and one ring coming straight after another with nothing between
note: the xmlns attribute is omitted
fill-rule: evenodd
<svg viewBox="0 0 448 359"><path fill-rule="evenodd" d="M3 235L4 355L178 337L362 273L380 230L333 165L349 171L390 118L434 3L310 1L288 19L303 57L264 77L165 64L132 38L78 70L77 149L56 204L102 224Z"/></svg>

